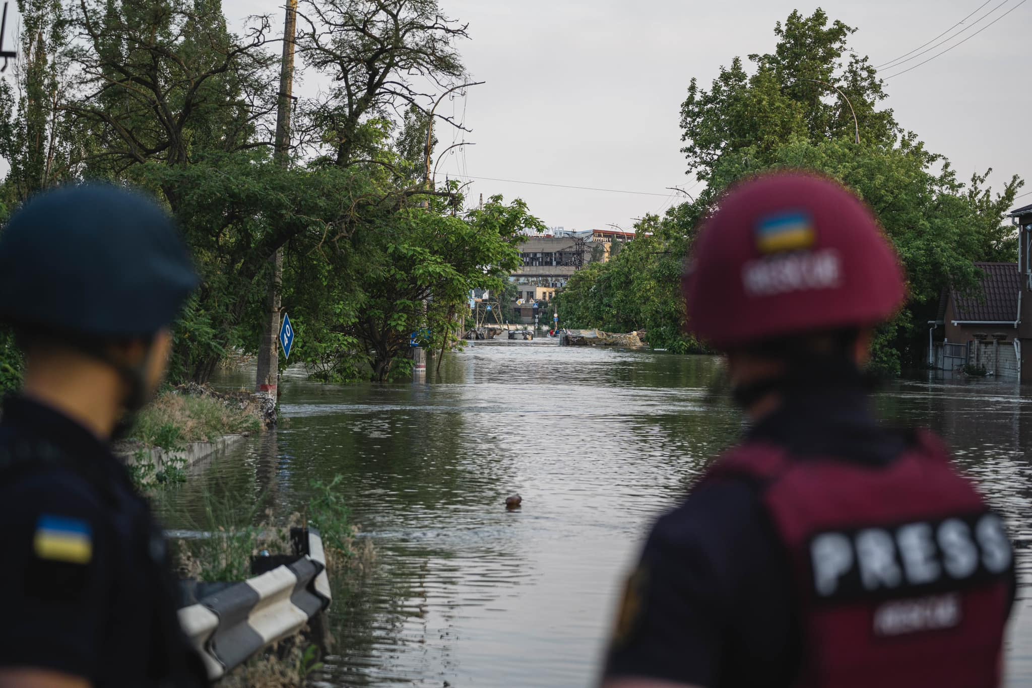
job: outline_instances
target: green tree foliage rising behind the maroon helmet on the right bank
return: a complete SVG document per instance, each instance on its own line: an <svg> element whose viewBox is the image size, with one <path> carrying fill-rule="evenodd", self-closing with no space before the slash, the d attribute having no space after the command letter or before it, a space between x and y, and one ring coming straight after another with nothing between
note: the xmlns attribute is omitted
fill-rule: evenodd
<svg viewBox="0 0 1032 688"><path fill-rule="evenodd" d="M615 260L571 280L560 298L568 323L656 328L664 334L650 332L653 346L691 350L696 342L677 334L677 308L664 302L682 307L674 288L676 261L656 257L690 251L696 226L735 182L806 169L840 181L864 199L906 268L910 299L879 331L875 365L898 372L901 364L922 360L924 323L934 319L941 290L950 284L976 289L973 261L1017 259L1017 241L1003 219L1022 182L1012 177L994 194L987 184L991 170L958 179L943 156L879 107L884 84L868 58L848 47L853 31L820 9L809 17L794 11L775 26L773 53L748 56L750 68L736 58L709 89L690 80L680 111L682 152L704 190L662 220L640 223L639 238Z"/></svg>

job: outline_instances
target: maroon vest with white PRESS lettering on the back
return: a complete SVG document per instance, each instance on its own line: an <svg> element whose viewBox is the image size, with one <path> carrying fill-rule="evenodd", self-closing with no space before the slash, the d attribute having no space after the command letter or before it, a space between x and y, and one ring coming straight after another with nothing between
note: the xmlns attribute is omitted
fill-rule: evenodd
<svg viewBox="0 0 1032 688"><path fill-rule="evenodd" d="M745 478L788 554L798 688L999 685L1013 554L1003 523L927 432L886 465L751 443L704 482Z"/></svg>

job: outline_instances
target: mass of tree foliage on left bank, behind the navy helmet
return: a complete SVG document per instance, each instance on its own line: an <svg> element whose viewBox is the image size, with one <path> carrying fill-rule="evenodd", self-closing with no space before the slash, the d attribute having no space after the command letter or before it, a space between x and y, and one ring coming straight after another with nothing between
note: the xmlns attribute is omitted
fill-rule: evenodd
<svg viewBox="0 0 1032 688"><path fill-rule="evenodd" d="M521 232L541 227L519 200L465 211L457 188L422 184L432 103L464 75L454 41L465 27L436 0L302 1L298 62L332 87L295 105L286 165L271 156L271 18L234 33L219 0L21 9L23 57L0 85L11 166L0 220L41 189L90 177L161 199L202 277L173 330L175 380L203 382L228 352L256 351L278 250L292 360L324 380L397 376L410 334L455 346L469 290L501 287ZM4 385L19 371L12 351L3 335Z"/></svg>

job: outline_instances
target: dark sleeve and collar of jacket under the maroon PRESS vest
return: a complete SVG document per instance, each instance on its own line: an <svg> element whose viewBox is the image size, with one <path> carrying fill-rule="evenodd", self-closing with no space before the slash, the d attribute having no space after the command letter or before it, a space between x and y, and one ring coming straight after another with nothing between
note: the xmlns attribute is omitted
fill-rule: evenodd
<svg viewBox="0 0 1032 688"><path fill-rule="evenodd" d="M860 390L810 394L762 419L747 439L793 456L885 465L907 434L881 426ZM707 482L663 516L631 577L606 675L706 688L789 686L802 631L787 553L745 480ZM1012 590L1012 589L1011 589Z"/></svg>

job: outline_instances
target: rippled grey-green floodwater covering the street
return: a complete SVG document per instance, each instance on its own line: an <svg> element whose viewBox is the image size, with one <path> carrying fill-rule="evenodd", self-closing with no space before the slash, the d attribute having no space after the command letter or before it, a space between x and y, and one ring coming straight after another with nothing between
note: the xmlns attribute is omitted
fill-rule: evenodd
<svg viewBox="0 0 1032 688"><path fill-rule="evenodd" d="M741 432L708 392L718 368L538 339L477 342L427 383L327 386L290 370L284 427L196 468L158 507L190 527L206 490L283 518L312 480L344 477L378 558L334 600L336 645L315 685L585 686L643 532ZM1032 687L1032 389L928 376L895 383L877 407L943 434L1005 515L1025 583L1007 685ZM507 512L514 492L523 506Z"/></svg>

